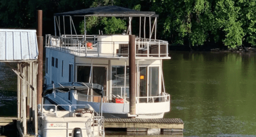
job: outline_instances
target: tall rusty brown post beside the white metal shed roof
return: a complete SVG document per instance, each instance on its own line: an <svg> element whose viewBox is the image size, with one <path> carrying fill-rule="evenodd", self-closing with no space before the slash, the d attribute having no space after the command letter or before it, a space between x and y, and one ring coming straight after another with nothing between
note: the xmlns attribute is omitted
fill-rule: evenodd
<svg viewBox="0 0 256 137"><path fill-rule="evenodd" d="M37 45L38 45L38 71L37 71L37 104L42 102L43 88L43 36L42 36L43 11L37 10Z"/></svg>

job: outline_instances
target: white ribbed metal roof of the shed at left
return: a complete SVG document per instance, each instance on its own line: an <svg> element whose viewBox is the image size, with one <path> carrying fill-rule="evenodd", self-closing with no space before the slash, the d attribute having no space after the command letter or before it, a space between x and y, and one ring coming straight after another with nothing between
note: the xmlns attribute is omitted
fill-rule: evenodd
<svg viewBox="0 0 256 137"><path fill-rule="evenodd" d="M0 62L34 60L37 56L36 30L0 29Z"/></svg>

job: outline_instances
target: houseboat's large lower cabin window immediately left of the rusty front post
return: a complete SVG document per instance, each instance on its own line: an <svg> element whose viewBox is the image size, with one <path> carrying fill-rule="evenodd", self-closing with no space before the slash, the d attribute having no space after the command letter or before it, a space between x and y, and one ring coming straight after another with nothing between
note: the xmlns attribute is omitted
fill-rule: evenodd
<svg viewBox="0 0 256 137"><path fill-rule="evenodd" d="M126 79L124 73L124 66L112 66L112 96L129 97L129 66L126 66Z"/></svg>

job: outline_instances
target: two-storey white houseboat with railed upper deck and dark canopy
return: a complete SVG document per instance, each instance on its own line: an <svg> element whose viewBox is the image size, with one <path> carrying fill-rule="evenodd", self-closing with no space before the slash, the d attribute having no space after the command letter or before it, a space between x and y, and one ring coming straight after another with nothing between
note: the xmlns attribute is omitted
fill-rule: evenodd
<svg viewBox="0 0 256 137"><path fill-rule="evenodd" d="M129 22L123 34L78 35L73 18L122 17ZM168 56L168 42L156 40L155 12L135 11L118 6L99 6L54 14L55 35L46 35L46 84L87 82L103 86L102 112L105 118L129 118L129 35L135 36L135 117L163 118L170 111L165 92L162 60ZM132 19L139 21L132 25ZM69 24L67 24L69 22ZM69 29L69 31L67 31ZM84 24L86 30L86 23ZM69 34L66 34L69 32ZM101 95L93 89L47 96L56 104L89 104L100 111Z"/></svg>

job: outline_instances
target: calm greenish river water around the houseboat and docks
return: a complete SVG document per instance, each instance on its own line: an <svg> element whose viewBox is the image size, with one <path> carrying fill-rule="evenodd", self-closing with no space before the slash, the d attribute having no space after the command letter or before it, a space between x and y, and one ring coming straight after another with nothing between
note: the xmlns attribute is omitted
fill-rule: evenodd
<svg viewBox="0 0 256 137"><path fill-rule="evenodd" d="M163 61L171 111L184 133L170 136L255 136L256 54L170 51ZM16 116L17 76L0 63L0 116ZM125 132L107 132L107 136ZM130 134L146 136L144 134ZM161 135L161 136L169 136Z"/></svg>

